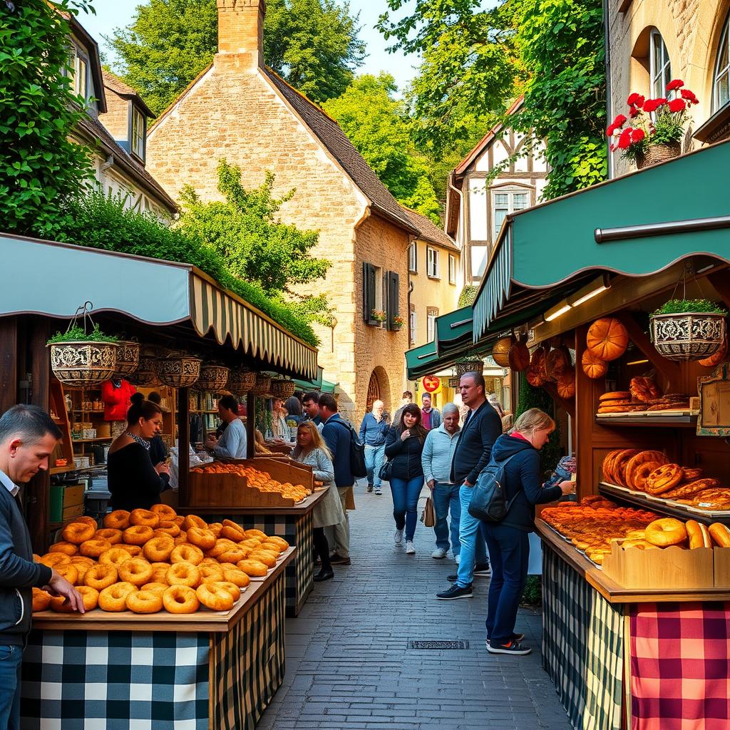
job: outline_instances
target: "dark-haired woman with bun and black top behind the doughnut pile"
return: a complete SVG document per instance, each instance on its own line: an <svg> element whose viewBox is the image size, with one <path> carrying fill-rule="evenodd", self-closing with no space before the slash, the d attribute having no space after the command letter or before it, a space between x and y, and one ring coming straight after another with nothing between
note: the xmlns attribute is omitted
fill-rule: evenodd
<svg viewBox="0 0 730 730"><path fill-rule="evenodd" d="M150 460L150 441L162 428L162 410L155 403L136 399L127 412L127 424L107 458L112 508L149 510L159 502L160 492L170 480L169 466L153 466Z"/></svg>

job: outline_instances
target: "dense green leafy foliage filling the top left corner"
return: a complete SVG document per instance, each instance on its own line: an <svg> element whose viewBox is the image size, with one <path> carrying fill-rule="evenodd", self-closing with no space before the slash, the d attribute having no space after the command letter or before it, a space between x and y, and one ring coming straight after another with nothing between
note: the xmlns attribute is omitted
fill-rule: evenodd
<svg viewBox="0 0 730 730"><path fill-rule="evenodd" d="M85 99L69 78L69 13L85 0L0 3L0 228L53 237L58 208L91 179L69 135ZM64 14L66 16L64 17Z"/></svg>

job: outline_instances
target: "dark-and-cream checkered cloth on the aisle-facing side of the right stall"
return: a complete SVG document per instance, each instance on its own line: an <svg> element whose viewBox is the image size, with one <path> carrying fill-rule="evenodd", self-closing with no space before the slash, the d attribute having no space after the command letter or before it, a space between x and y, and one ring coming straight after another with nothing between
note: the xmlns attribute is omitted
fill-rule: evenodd
<svg viewBox="0 0 730 730"><path fill-rule="evenodd" d="M545 542L542 666L575 730L621 730L623 613Z"/></svg>

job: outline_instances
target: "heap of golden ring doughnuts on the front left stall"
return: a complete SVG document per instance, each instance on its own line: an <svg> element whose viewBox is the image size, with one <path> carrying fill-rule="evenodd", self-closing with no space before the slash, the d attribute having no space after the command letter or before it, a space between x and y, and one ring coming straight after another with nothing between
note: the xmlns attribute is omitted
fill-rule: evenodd
<svg viewBox="0 0 730 730"><path fill-rule="evenodd" d="M208 524L182 517L166 504L115 510L98 529L80 517L62 542L34 559L58 571L82 594L85 610L194 613L201 606L228 611L251 576L265 576L289 544L231 520ZM63 596L33 589L33 610L71 612Z"/></svg>

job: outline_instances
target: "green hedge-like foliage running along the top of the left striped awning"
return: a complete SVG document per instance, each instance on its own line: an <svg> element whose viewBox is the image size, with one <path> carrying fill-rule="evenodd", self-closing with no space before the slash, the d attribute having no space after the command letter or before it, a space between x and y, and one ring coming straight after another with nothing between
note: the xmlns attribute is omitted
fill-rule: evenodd
<svg viewBox="0 0 730 730"><path fill-rule="evenodd" d="M231 274L223 257L180 228L168 228L151 213L124 207L124 200L90 193L66 201L56 239L80 246L120 251L197 266L226 289L237 293L292 334L318 345L311 326L285 301L270 299L255 283ZM158 292L164 296L164 292Z"/></svg>

